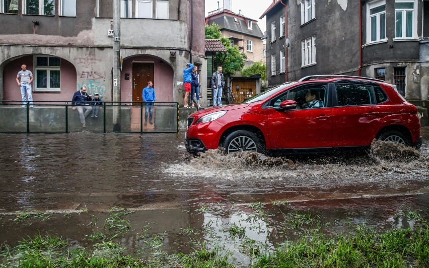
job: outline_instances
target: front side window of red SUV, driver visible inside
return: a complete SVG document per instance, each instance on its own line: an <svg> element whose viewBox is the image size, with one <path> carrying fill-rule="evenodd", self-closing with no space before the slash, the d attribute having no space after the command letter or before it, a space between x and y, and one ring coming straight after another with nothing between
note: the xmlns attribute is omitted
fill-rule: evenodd
<svg viewBox="0 0 429 268"><path fill-rule="evenodd" d="M326 86L311 85L298 89L288 90L270 101L270 106L280 107L285 100L294 100L298 103L297 109L321 108L326 103Z"/></svg>

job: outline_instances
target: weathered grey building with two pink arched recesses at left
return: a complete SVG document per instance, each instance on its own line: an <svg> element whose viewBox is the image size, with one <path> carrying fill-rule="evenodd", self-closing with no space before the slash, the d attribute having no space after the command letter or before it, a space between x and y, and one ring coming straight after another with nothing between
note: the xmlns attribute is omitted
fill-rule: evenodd
<svg viewBox="0 0 429 268"><path fill-rule="evenodd" d="M35 101L71 100L82 85L113 100L114 0L0 2L8 25L0 33L0 100L21 99L22 63L34 75ZM120 0L120 15L120 100L141 101L151 80L157 101L182 105L186 63L206 73L204 1Z"/></svg>

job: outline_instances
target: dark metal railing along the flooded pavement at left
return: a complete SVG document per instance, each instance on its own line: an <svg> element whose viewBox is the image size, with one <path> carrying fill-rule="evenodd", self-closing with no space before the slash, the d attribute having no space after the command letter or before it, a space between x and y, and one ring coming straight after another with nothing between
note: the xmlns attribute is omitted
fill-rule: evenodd
<svg viewBox="0 0 429 268"><path fill-rule="evenodd" d="M69 133L69 132L120 132L166 133L178 132L177 102L112 102L103 101L98 116L87 112L85 127L79 111L73 110L71 101L0 101L0 133ZM152 105L153 104L153 105ZM95 105L89 105L94 107ZM153 118L150 120L150 109ZM146 110L148 110L145 121Z"/></svg>

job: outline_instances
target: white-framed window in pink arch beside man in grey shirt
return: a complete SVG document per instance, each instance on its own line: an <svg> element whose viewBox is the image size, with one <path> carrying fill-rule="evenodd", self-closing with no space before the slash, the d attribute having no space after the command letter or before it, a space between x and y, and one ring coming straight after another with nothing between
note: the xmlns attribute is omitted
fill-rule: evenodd
<svg viewBox="0 0 429 268"><path fill-rule="evenodd" d="M35 91L60 90L60 59L51 56L35 56Z"/></svg>

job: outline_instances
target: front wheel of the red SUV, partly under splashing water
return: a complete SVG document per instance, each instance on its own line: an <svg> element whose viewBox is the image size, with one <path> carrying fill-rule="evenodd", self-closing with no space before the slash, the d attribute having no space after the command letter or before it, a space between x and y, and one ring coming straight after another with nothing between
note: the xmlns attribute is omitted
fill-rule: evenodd
<svg viewBox="0 0 429 268"><path fill-rule="evenodd" d="M255 133L248 130L237 130L227 136L223 147L226 153L251 151L263 154L265 152L260 140Z"/></svg>

